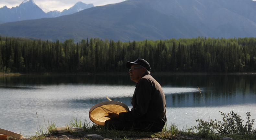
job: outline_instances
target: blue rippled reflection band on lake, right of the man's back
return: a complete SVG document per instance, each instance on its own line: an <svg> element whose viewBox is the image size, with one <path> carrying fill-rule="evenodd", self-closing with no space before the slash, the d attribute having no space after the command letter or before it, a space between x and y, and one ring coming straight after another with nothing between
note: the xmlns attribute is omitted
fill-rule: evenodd
<svg viewBox="0 0 256 140"><path fill-rule="evenodd" d="M225 94L206 92L202 94L206 107L256 103L255 94ZM199 92L165 95L167 107L205 107Z"/></svg>

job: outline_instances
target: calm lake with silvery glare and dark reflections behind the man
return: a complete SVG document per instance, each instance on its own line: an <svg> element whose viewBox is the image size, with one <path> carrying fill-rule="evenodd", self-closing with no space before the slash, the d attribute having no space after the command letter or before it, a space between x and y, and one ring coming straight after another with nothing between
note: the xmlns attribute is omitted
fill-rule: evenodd
<svg viewBox="0 0 256 140"><path fill-rule="evenodd" d="M195 119L220 119L219 111L230 110L256 119L255 74L151 75L165 93L168 125L196 126ZM89 109L106 96L131 109L135 84L128 74L0 76L0 128L34 135L48 122L65 126L74 117L91 123Z"/></svg>

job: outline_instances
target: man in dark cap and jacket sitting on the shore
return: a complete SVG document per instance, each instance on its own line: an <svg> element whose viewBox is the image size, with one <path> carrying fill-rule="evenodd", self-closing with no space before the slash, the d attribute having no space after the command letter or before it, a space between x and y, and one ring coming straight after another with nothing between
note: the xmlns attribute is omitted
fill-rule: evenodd
<svg viewBox="0 0 256 140"><path fill-rule="evenodd" d="M130 79L136 82L131 111L119 115L109 113L111 118L105 126L116 130L162 131L166 118L165 95L160 84L150 75L150 65L144 59L126 62Z"/></svg>

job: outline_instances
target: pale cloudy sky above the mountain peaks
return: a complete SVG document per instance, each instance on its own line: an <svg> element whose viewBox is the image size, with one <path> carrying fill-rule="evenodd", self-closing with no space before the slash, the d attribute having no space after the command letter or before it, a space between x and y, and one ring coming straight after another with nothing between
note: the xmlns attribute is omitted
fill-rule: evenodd
<svg viewBox="0 0 256 140"><path fill-rule="evenodd" d="M1 0L0 8L7 6L8 8L19 6L24 0ZM29 0L27 0L29 1ZM94 6L101 6L107 4L119 3L125 0L33 0L45 13L58 10L62 12L64 9L69 9L77 2L85 4L93 4ZM255 0L256 1L256 0Z"/></svg>

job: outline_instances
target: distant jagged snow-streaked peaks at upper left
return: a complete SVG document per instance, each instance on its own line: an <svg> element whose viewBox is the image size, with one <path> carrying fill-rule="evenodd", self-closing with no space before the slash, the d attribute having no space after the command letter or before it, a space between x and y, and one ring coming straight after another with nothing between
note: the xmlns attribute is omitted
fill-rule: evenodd
<svg viewBox="0 0 256 140"><path fill-rule="evenodd" d="M74 6L60 11L50 11L45 13L40 7L38 7L33 0L23 1L19 6L8 8L4 6L0 8L0 24L6 22L22 21L29 19L40 19L40 18L52 18L62 15L73 14L81 10L94 7L93 4L85 4L77 2Z"/></svg>

